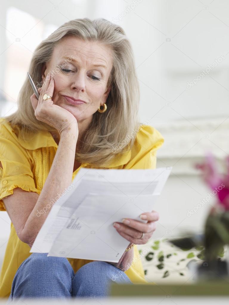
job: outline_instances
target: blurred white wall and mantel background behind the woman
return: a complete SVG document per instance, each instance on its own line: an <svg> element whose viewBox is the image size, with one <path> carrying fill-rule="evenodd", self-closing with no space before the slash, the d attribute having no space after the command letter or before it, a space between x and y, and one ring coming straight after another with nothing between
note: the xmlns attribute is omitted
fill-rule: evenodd
<svg viewBox="0 0 229 305"><path fill-rule="evenodd" d="M155 237L180 234L187 228L201 230L206 213L215 199L212 198L191 217L187 216L187 210L197 206L210 192L193 164L209 150L222 164L229 151L228 133L226 135L229 121L229 2L143 0L133 4L132 1L123 0L64 0L60 4L53 4L43 0L29 4L11 1L3 5L0 12L3 23L3 27L0 27L0 62L3 67L0 92L9 102L7 110L6 106L2 108L1 115L5 115L14 105L10 104L10 101L13 102L10 88L20 88L26 77L22 70L23 77L18 77L16 81L12 73L9 75L4 70L7 54L15 47L13 34L11 41L5 38L7 6L23 10L38 20L37 24L27 25L27 34L25 31L20 33L18 24L19 34L16 37L21 37L19 43L24 48L28 66L34 48L30 41L41 24L44 33L48 33L48 29L75 18L103 17L114 22L132 4L133 9L117 23L126 31L134 50L141 90L141 121L150 120L150 124L165 138L163 147L158 151L157 167L173 167L155 206L161 215ZM35 45L46 37L44 33L43 38L35 40ZM214 62L221 56L224 56L221 63L213 66L196 85L187 88L187 82L193 81L203 70L207 71L208 65L215 65ZM7 75L7 83L4 75ZM0 237L7 238L9 217L4 212L0 217Z"/></svg>

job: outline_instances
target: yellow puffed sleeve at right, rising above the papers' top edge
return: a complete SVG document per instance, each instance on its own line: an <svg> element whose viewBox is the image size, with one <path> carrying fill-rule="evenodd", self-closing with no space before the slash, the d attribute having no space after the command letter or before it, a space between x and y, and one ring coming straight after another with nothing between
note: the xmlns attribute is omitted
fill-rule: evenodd
<svg viewBox="0 0 229 305"><path fill-rule="evenodd" d="M163 145L164 138L156 128L150 125L141 125L138 129L131 150L131 159L123 168L155 169L156 153Z"/></svg>

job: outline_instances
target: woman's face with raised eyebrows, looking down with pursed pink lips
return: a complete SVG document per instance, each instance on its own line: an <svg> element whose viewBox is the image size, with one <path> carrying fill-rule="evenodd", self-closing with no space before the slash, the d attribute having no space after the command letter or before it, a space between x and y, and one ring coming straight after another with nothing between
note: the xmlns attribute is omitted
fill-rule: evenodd
<svg viewBox="0 0 229 305"><path fill-rule="evenodd" d="M90 122L98 107L106 103L111 89L107 88L107 81L112 65L112 50L109 47L73 36L64 37L55 46L51 60L43 67L42 80L48 72L52 72L54 104L70 111L78 123L84 120ZM73 105L65 95L85 103Z"/></svg>

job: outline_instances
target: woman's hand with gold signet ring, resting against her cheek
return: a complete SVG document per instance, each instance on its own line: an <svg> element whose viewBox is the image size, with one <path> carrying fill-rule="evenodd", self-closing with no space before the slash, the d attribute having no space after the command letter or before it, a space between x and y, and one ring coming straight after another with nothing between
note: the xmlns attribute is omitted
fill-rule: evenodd
<svg viewBox="0 0 229 305"><path fill-rule="evenodd" d="M48 73L42 87L38 88L39 99L37 99L35 93L30 96L35 117L37 120L54 127L59 132L59 135L63 131L68 131L72 128L76 128L78 131L77 120L72 113L55 105L52 99L43 100L45 93L53 96L54 87L54 78L51 73Z"/></svg>

